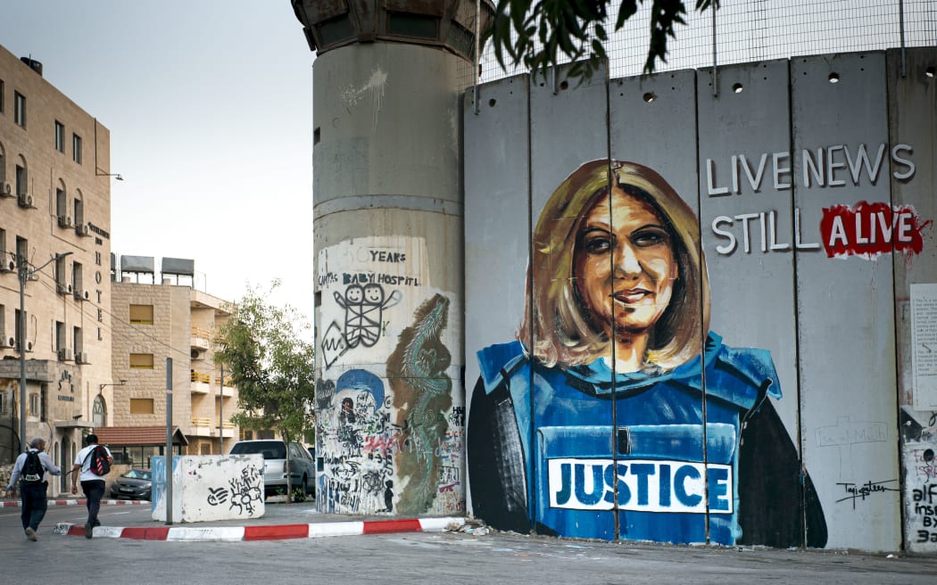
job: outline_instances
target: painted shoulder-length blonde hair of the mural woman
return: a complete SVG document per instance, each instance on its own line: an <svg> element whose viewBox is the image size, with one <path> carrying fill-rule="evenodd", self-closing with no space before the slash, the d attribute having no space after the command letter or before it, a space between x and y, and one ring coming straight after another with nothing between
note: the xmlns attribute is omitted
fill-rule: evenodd
<svg viewBox="0 0 937 585"><path fill-rule="evenodd" d="M518 339L532 346L534 358L548 366L588 363L608 346L610 340L593 324L579 297L573 256L583 215L610 192L610 186L645 201L670 232L677 280L670 304L654 325L648 350L654 363L675 368L700 353L709 329L709 283L699 226L690 206L661 175L634 163L587 162L543 206L528 269L533 290Z"/></svg>

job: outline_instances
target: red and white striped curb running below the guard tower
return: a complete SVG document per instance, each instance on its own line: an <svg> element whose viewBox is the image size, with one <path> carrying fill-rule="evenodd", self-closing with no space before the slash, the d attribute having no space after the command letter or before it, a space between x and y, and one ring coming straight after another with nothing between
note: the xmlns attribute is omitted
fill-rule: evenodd
<svg viewBox="0 0 937 585"><path fill-rule="evenodd" d="M132 538L135 540L177 540L186 542L238 542L245 540L285 540L322 536L357 536L360 534L441 533L460 529L464 518L424 518L366 520L363 522L320 522L316 524L277 524L272 526L159 526L117 528L97 526L95 538ZM61 522L55 534L83 536L82 524Z"/></svg>

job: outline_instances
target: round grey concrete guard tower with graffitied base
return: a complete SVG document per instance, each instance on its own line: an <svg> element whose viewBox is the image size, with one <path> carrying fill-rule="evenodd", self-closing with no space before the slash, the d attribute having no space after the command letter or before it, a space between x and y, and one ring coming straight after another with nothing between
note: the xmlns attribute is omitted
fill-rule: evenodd
<svg viewBox="0 0 937 585"><path fill-rule="evenodd" d="M464 513L459 96L494 5L291 4L317 53L318 508Z"/></svg>

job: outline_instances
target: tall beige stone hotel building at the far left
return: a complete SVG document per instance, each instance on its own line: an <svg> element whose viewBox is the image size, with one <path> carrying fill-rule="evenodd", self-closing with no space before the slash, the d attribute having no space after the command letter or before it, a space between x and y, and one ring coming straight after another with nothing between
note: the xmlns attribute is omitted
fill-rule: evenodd
<svg viewBox="0 0 937 585"><path fill-rule="evenodd" d="M41 63L0 47L0 462L24 443L21 374L24 438L56 463L111 420L110 140Z"/></svg>

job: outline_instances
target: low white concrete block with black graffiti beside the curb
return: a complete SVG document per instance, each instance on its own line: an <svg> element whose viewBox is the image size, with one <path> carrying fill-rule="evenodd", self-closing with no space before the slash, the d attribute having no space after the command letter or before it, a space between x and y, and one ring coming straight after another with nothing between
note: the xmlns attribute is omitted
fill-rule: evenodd
<svg viewBox="0 0 937 585"><path fill-rule="evenodd" d="M153 458L153 519L165 521L166 461ZM185 455L172 458L172 521L261 518L261 455Z"/></svg>

